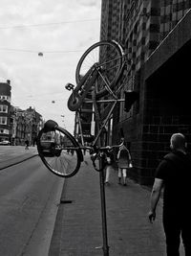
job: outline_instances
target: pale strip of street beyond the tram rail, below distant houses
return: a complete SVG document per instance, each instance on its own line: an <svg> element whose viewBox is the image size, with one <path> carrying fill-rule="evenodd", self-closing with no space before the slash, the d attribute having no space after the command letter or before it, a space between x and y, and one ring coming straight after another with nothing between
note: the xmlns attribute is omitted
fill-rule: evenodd
<svg viewBox="0 0 191 256"><path fill-rule="evenodd" d="M29 147L29 150L25 150L24 146L0 146L0 170L21 163L36 155L38 155L36 147Z"/></svg>

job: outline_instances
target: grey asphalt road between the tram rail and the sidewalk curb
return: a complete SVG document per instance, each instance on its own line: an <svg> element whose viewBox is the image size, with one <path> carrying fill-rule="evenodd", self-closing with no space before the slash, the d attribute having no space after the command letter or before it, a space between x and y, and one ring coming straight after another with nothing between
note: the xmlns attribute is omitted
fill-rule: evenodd
<svg viewBox="0 0 191 256"><path fill-rule="evenodd" d="M63 182L39 156L0 171L0 255L48 255Z"/></svg>

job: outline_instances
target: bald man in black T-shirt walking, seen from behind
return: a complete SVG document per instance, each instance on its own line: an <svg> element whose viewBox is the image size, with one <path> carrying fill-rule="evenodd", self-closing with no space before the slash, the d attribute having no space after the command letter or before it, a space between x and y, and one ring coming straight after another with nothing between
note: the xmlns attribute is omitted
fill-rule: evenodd
<svg viewBox="0 0 191 256"><path fill-rule="evenodd" d="M174 133L170 139L171 152L160 161L151 193L151 222L163 188L163 227L168 256L180 255L180 235L185 256L191 255L191 207L189 206L191 157L186 152L183 134Z"/></svg>

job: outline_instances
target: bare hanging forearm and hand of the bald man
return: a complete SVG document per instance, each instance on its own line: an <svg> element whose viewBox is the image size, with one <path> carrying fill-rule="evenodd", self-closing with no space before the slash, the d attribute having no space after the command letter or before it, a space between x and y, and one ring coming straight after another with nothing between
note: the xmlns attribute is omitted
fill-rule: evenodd
<svg viewBox="0 0 191 256"><path fill-rule="evenodd" d="M151 223L153 223L153 221L155 221L156 219L156 208L158 205L162 185L163 185L163 180L160 178L155 178L155 182L154 182L152 193L151 193L151 208L148 214L149 221Z"/></svg>

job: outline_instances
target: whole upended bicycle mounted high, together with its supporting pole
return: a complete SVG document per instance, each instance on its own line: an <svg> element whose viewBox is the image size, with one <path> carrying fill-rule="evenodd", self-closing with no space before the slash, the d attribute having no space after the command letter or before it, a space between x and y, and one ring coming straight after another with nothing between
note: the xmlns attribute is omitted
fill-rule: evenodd
<svg viewBox="0 0 191 256"><path fill-rule="evenodd" d="M117 87L117 83L128 65L129 60L126 58L122 47L116 41L99 41L92 45L82 55L76 66L76 86L74 87L72 83L66 85L66 88L72 91L68 100L68 107L71 111L76 112L81 133L81 145L70 132L60 128L53 120L46 122L37 137L37 149L43 163L54 175L61 177L75 175L83 161L82 150L90 151L93 165L100 175L104 256L109 255L109 246L107 243L103 170L107 164L107 153L120 147L121 144L108 146L101 140L101 135L116 105L126 100L119 99L118 95L123 84ZM138 99L138 93L135 91L129 93L132 93L133 96L130 101L130 105L132 105ZM104 98L106 96L107 99ZM97 132L92 144L89 146L86 146L83 141L79 114L83 103L93 104L96 116ZM101 116L100 105L103 104L107 104L107 106L104 116ZM43 147L43 139L47 134L51 134L54 140L54 144L50 146L52 149L49 152Z"/></svg>

